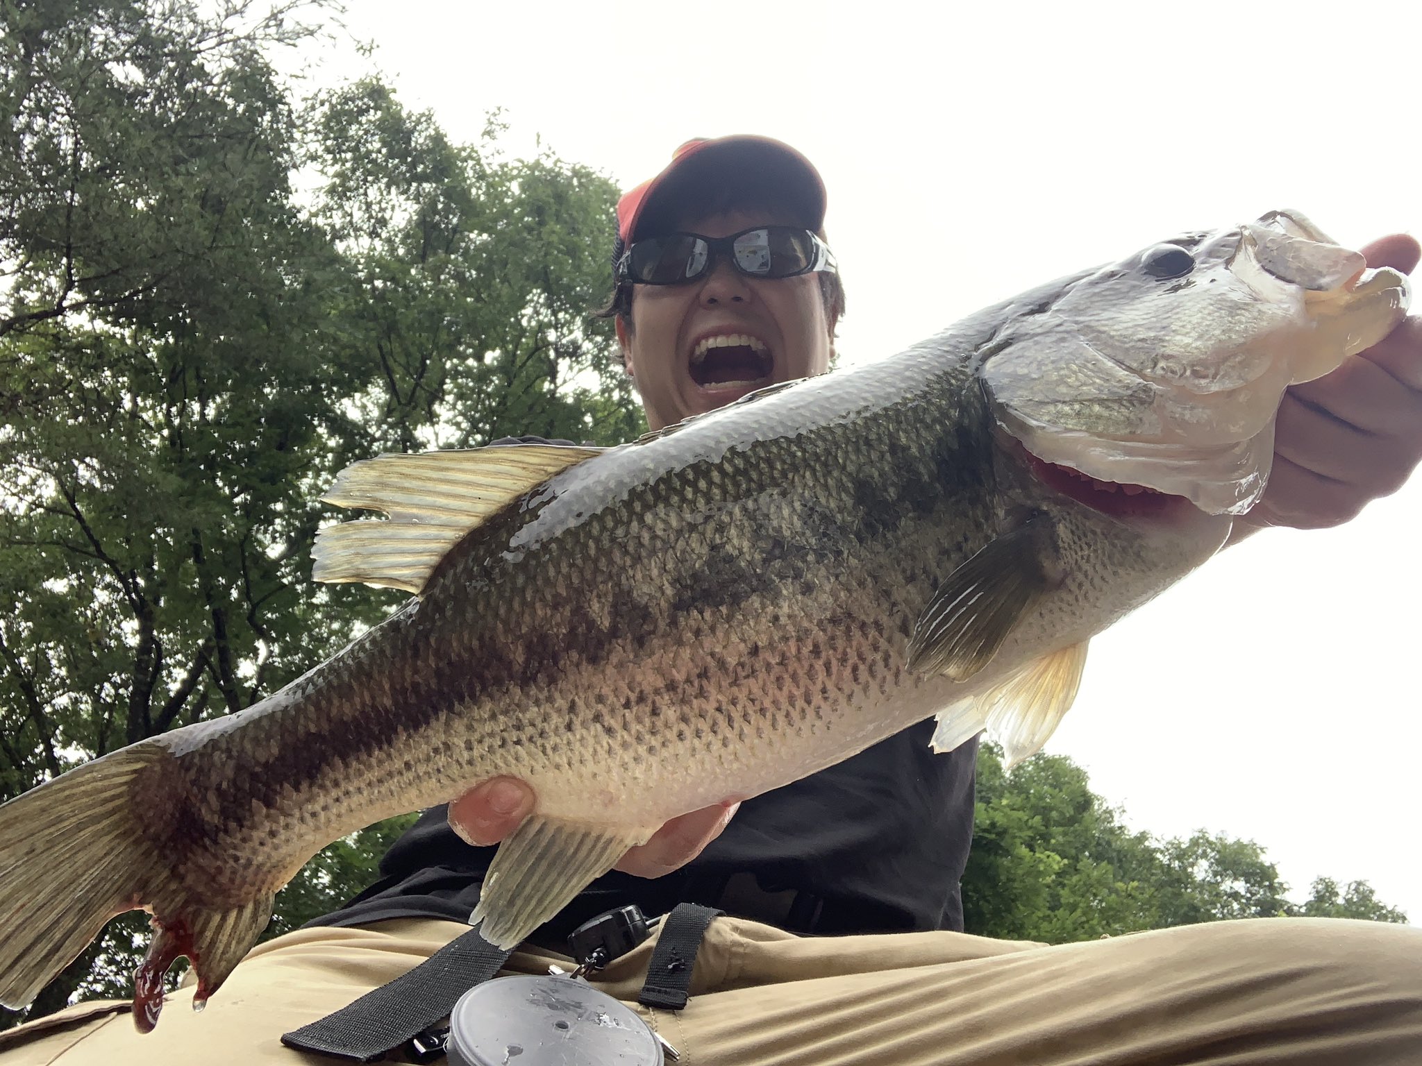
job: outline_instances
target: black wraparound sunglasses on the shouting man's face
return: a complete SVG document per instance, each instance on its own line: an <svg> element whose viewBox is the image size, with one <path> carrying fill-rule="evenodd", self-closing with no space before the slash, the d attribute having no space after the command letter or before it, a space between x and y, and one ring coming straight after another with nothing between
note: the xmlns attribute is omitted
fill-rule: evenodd
<svg viewBox="0 0 1422 1066"><path fill-rule="evenodd" d="M757 226L729 237L668 233L664 237L638 240L617 260L617 280L641 286L675 286L701 277L720 257L725 257L747 277L839 271L829 244L808 229Z"/></svg>

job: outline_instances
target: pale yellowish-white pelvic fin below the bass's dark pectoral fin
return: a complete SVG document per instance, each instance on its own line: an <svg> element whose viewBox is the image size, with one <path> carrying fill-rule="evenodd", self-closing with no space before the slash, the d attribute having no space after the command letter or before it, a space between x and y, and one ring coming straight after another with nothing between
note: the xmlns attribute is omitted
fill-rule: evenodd
<svg viewBox="0 0 1422 1066"><path fill-rule="evenodd" d="M1003 745L1008 769L1037 755L1075 702L1085 665L1086 641L1082 641L1028 662L985 692L946 706L939 712L933 750L951 752L987 729Z"/></svg>

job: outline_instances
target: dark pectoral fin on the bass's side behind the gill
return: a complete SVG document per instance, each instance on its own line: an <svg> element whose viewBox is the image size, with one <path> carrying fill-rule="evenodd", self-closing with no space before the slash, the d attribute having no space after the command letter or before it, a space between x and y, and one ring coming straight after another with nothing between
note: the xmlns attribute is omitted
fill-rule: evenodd
<svg viewBox="0 0 1422 1066"><path fill-rule="evenodd" d="M1051 522L1037 516L1000 536L948 574L919 615L909 669L967 681L985 667L1017 621L1059 584Z"/></svg>

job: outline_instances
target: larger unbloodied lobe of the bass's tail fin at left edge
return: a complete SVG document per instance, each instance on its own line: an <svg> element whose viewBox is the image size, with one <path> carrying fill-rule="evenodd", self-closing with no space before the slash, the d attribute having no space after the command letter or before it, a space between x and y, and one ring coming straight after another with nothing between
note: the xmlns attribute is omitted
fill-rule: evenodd
<svg viewBox="0 0 1422 1066"><path fill-rule="evenodd" d="M30 1003L109 918L141 905L151 847L129 786L156 756L125 748L0 806L0 1003Z"/></svg>

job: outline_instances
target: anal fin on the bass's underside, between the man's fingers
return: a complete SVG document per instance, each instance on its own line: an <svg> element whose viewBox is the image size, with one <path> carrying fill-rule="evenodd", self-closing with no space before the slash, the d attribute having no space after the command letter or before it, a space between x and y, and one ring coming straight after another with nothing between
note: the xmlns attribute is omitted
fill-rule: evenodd
<svg viewBox="0 0 1422 1066"><path fill-rule="evenodd" d="M656 831L530 814L499 844L469 922L496 948L515 948Z"/></svg>

